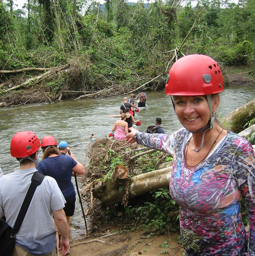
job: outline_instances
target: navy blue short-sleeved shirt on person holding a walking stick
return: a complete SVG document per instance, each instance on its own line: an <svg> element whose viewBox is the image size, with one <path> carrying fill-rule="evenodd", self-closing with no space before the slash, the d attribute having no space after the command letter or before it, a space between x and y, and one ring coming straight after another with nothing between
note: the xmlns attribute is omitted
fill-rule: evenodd
<svg viewBox="0 0 255 256"><path fill-rule="evenodd" d="M46 157L37 165L37 170L43 175L56 179L65 200L72 200L75 197L74 184L71 182L73 167L77 162L71 156L58 155Z"/></svg>

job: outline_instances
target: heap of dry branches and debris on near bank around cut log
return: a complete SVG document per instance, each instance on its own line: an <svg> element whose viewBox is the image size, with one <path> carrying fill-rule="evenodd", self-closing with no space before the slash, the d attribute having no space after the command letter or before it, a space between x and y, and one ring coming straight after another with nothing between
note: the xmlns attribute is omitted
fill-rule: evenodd
<svg viewBox="0 0 255 256"><path fill-rule="evenodd" d="M150 154L155 151L137 143L127 144L125 141L115 140L114 137L97 139L91 144L87 152L89 164L85 167L85 175L80 177L83 187L81 195L87 204L85 215L90 216L91 232L98 231L97 228L103 229L104 223L109 220L106 216L107 207L93 197L92 189L98 182L104 182L104 178L107 177L109 171L115 165L120 164L117 162L112 163L112 159L121 158L120 161L122 161L122 164L128 169L128 174L132 177L143 173L145 166L148 166L149 162L153 162ZM145 154L147 154L147 157L144 157ZM157 151L157 158L153 165L161 164L167 155ZM128 190L128 184L126 185L125 190ZM125 203L127 204L128 197L125 197L125 200L127 200Z"/></svg>

